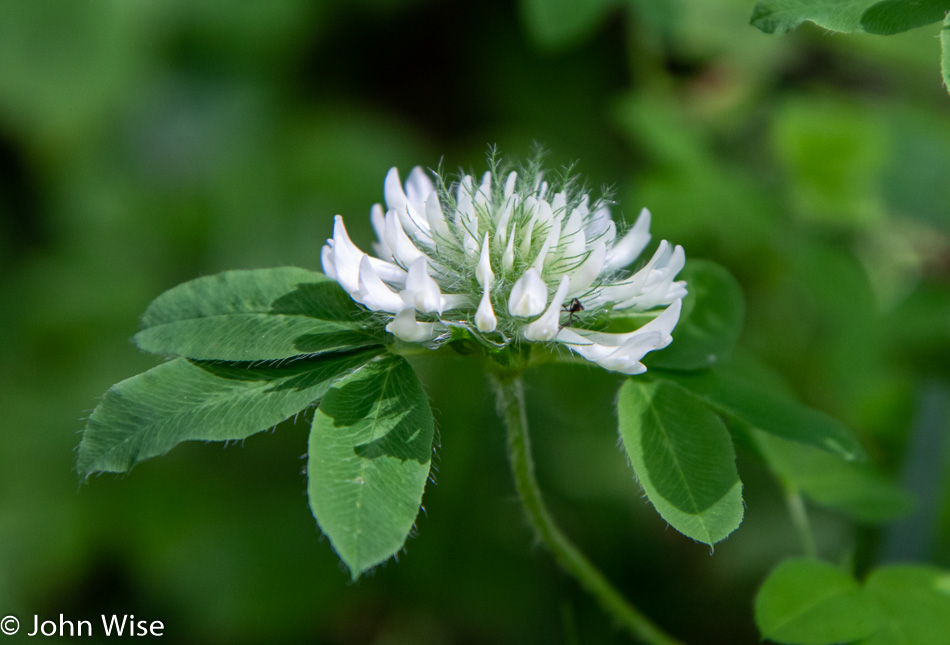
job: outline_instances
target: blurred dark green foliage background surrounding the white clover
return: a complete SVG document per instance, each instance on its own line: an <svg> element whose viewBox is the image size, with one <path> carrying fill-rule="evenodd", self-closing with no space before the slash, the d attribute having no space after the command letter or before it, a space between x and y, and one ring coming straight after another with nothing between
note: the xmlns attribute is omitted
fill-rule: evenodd
<svg viewBox="0 0 950 645"><path fill-rule="evenodd" d="M624 642L534 543L462 359L416 364L436 482L399 562L355 584L308 510L303 419L126 476L74 471L97 397L155 364L129 342L152 298L225 269L316 269L337 213L368 248L390 166L479 170L488 144L578 161L616 217L649 206L656 238L729 268L740 352L918 496L885 526L814 508L825 555L950 566L937 28L773 37L751 8L0 0L0 614L130 613L186 644ZM531 375L552 510L677 636L757 642L755 589L798 552L779 487L740 453L743 526L714 554L668 529L618 448L618 384Z"/></svg>

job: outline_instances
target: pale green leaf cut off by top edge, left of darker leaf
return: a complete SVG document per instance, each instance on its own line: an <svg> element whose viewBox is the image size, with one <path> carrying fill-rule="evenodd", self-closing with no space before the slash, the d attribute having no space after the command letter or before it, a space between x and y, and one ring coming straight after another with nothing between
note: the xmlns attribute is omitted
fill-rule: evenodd
<svg viewBox="0 0 950 645"><path fill-rule="evenodd" d="M784 34L811 21L832 31L862 31L861 16L876 0L759 0L752 24L767 34Z"/></svg>

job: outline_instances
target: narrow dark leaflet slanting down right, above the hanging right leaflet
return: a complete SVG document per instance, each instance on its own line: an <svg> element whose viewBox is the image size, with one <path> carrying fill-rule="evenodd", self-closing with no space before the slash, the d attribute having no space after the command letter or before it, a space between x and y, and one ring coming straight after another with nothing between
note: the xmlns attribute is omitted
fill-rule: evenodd
<svg viewBox="0 0 950 645"><path fill-rule="evenodd" d="M864 450L837 419L805 407L762 381L744 378L728 366L693 374L664 374L714 410L783 439L815 446L848 460Z"/></svg>

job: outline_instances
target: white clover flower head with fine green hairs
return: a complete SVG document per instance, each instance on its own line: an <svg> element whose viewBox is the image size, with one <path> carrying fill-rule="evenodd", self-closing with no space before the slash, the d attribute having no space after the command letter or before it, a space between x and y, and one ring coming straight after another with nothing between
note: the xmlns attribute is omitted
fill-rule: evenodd
<svg viewBox="0 0 950 645"><path fill-rule="evenodd" d="M638 263L651 241L647 209L618 236L606 200L592 202L571 179L549 184L533 168L438 188L419 167L405 184L392 168L383 195L385 207L370 210L376 257L337 215L321 259L400 340L435 347L457 329L496 348L554 342L625 374L646 371L641 359L672 341L686 256L663 240ZM600 330L631 314L655 317L626 333Z"/></svg>

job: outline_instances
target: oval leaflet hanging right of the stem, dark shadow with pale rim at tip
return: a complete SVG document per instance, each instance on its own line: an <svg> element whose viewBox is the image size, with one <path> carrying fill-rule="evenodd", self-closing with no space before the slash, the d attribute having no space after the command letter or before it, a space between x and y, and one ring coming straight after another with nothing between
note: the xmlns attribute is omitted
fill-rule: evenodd
<svg viewBox="0 0 950 645"><path fill-rule="evenodd" d="M663 381L628 379L617 411L633 470L663 519L706 544L732 533L742 522L742 482L722 421Z"/></svg>

